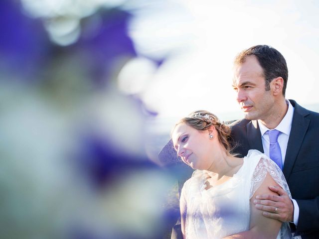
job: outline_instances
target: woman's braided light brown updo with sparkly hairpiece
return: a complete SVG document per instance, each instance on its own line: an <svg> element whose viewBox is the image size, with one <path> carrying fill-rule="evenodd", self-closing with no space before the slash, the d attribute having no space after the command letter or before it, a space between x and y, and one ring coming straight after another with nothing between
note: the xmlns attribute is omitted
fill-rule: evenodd
<svg viewBox="0 0 319 239"><path fill-rule="evenodd" d="M217 130L219 142L224 146L227 154L230 155L230 151L232 150L232 146L228 142L230 139L230 127L221 123L214 114L208 111L194 111L187 117L180 119L175 124L175 127L180 123L186 123L187 125L201 131L208 129L213 125Z"/></svg>

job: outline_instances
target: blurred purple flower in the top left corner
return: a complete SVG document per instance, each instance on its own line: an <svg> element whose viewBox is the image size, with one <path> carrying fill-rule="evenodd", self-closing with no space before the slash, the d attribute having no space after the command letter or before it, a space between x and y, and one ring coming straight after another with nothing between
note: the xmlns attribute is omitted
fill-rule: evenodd
<svg viewBox="0 0 319 239"><path fill-rule="evenodd" d="M34 79L49 57L50 42L42 22L27 17L21 9L17 1L0 1L0 73Z"/></svg>

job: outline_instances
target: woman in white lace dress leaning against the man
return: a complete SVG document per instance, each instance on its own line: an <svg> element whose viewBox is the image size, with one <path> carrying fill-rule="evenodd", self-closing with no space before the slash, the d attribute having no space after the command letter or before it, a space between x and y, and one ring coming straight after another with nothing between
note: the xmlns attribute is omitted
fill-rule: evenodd
<svg viewBox="0 0 319 239"><path fill-rule="evenodd" d="M178 156L197 169L181 191L183 238L292 238L288 223L264 217L253 204L256 195L276 195L269 186L282 187L291 197L282 171L257 150L244 158L231 155L229 133L206 111L181 119L172 130Z"/></svg>

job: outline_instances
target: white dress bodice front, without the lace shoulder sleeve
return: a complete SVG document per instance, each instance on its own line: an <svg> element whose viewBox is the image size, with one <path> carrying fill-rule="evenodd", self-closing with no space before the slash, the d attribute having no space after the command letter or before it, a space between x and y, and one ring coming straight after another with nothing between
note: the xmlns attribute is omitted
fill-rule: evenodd
<svg viewBox="0 0 319 239"><path fill-rule="evenodd" d="M234 175L222 185L205 189L207 179L213 176L212 172L196 170L184 184L187 239L221 239L249 229L249 187L243 194L243 179ZM245 196L238 199L239 194Z"/></svg>

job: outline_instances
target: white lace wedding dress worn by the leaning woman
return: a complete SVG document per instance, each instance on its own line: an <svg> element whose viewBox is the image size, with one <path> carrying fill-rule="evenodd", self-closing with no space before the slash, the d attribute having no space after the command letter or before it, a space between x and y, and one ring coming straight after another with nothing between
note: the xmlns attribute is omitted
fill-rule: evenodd
<svg viewBox="0 0 319 239"><path fill-rule="evenodd" d="M265 154L249 150L239 171L225 183L205 189L212 172L196 170L182 188L180 203L186 205L186 239L221 239L249 230L250 198L267 172L291 197L280 168ZM292 238L283 223L277 239Z"/></svg>

